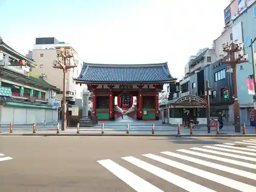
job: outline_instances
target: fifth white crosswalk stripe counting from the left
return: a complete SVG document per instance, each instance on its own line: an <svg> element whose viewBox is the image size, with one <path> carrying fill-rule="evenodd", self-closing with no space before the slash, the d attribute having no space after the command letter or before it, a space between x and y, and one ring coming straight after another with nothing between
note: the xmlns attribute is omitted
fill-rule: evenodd
<svg viewBox="0 0 256 192"><path fill-rule="evenodd" d="M199 156L199 157L214 159L214 160L218 160L218 161L222 161L222 162L226 162L226 163L230 163L230 164L234 164L234 165L240 165L240 166L243 166L243 167L256 169L256 165L251 164L251 163L246 163L246 162L242 162L242 161L227 159L227 158L218 157L218 156L214 156L214 155L207 155L207 154L204 154L204 153L193 152L193 151L188 151L188 150L177 150L177 151L182 152L182 153L186 153L186 154L190 154L190 155L196 155L196 156Z"/></svg>

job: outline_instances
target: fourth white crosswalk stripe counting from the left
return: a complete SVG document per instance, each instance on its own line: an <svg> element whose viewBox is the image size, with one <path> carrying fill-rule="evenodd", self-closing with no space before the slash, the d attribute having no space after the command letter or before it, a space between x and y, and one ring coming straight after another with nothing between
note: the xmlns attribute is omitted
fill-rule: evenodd
<svg viewBox="0 0 256 192"><path fill-rule="evenodd" d="M193 162L193 163L197 163L197 164L200 164L200 165L204 165L204 166L207 166L207 167L219 169L219 170L222 170L223 172L227 172L227 173L230 173L230 174L239 175L239 176L242 176L242 177L246 177L248 179L256 180L256 174L246 172L245 170L240 170L240 169L237 169L237 168L228 167L228 166L220 165L220 164L217 164L217 163L212 163L210 161L204 161L204 160L201 160L201 159L197 159L197 158L193 158L193 157L189 157L189 156L185 156L185 155L180 155L180 154L177 154L177 153L172 153L172 152L161 152L161 153L165 154L165 155L168 155L168 156L183 159L183 160L186 160L186 161L190 161L190 162Z"/></svg>

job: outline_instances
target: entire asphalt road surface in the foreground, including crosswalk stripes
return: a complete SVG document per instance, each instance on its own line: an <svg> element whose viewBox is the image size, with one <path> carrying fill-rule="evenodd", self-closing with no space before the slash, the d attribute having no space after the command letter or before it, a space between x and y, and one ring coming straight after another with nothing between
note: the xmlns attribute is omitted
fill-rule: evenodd
<svg viewBox="0 0 256 192"><path fill-rule="evenodd" d="M0 191L256 191L256 138L3 136Z"/></svg>

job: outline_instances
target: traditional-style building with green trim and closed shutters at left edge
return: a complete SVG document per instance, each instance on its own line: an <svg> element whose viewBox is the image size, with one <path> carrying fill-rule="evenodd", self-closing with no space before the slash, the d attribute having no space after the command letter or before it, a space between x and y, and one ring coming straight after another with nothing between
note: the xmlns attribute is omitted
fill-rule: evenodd
<svg viewBox="0 0 256 192"><path fill-rule="evenodd" d="M30 72L36 63L0 38L0 124L57 123L59 91Z"/></svg>

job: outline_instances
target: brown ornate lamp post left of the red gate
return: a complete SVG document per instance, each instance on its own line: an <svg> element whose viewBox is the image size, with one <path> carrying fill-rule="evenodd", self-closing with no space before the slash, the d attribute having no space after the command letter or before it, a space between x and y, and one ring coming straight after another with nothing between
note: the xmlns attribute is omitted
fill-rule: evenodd
<svg viewBox="0 0 256 192"><path fill-rule="evenodd" d="M57 58L58 60L53 61L53 68L55 69L62 69L63 71L63 99L62 99L62 106L61 106L61 131L66 130L66 114L67 114L67 109L66 109L66 76L67 76L67 71L69 69L73 69L77 67L78 65L78 60L74 59L74 49L67 49L64 47L56 47L56 52L57 52ZM71 61L73 60L73 65Z"/></svg>

